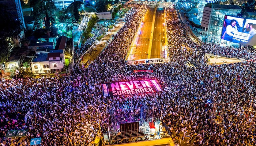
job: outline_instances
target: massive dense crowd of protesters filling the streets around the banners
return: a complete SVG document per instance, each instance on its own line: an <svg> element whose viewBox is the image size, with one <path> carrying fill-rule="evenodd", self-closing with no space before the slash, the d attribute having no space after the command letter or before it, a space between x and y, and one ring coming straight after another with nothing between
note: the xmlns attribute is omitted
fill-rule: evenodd
<svg viewBox="0 0 256 146"><path fill-rule="evenodd" d="M88 68L75 62L66 78L0 80L0 142L28 146L41 137L43 146L90 146L95 135L106 133L109 111L138 114L141 106L155 110L181 146L255 146L254 61L208 65L205 53L254 58L254 51L198 45L189 38L186 23L167 8L170 62L127 65L126 55L148 5L132 3L125 24ZM193 48L189 50L188 48ZM214 49L215 48L215 49ZM82 53L77 51L76 53ZM195 62L196 67L187 66ZM153 73L133 73L153 70ZM102 83L154 78L163 92L104 97ZM89 87L93 88L89 88ZM153 109L154 104L154 109ZM253 106L252 106L253 107ZM162 111L162 112L161 112ZM25 115L28 115L25 118ZM4 139L8 130L28 129L27 139Z"/></svg>

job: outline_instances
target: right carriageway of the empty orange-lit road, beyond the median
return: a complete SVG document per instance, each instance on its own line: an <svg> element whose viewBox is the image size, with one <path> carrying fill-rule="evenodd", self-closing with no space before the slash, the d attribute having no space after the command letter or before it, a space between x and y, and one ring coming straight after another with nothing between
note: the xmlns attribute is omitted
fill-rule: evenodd
<svg viewBox="0 0 256 146"><path fill-rule="evenodd" d="M150 58L161 58L160 52L162 50L162 46L165 46L164 22L164 10L163 8L157 8L157 12L155 13L155 28Z"/></svg>

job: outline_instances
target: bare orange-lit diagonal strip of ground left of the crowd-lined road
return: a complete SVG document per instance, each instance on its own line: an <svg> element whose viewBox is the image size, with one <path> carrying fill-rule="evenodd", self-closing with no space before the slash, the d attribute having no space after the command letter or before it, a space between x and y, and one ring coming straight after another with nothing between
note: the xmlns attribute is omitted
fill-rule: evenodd
<svg viewBox="0 0 256 146"><path fill-rule="evenodd" d="M112 35L116 34L123 26L124 26L124 21L118 21L116 23L116 26L102 38L102 41L100 43L98 43L98 41L96 41L95 42L96 45L94 43L94 45L88 50L88 52L86 54L84 54L82 64L86 64L87 62L89 63L91 61L94 61L107 46L106 42L109 39L112 41L112 39L113 39Z"/></svg>

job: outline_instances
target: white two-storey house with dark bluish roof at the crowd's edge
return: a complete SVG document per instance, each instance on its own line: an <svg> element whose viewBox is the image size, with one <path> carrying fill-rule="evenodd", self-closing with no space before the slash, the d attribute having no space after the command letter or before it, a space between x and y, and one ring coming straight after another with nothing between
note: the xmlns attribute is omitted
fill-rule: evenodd
<svg viewBox="0 0 256 146"><path fill-rule="evenodd" d="M56 73L63 71L65 56L63 50L36 52L31 60L31 69L34 74Z"/></svg>

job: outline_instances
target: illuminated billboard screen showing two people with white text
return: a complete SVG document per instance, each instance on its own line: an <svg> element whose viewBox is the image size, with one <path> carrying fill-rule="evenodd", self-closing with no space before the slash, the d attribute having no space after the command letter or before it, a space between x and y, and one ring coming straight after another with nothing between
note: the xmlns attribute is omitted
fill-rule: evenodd
<svg viewBox="0 0 256 146"><path fill-rule="evenodd" d="M221 38L243 45L256 45L256 20L225 16Z"/></svg>

